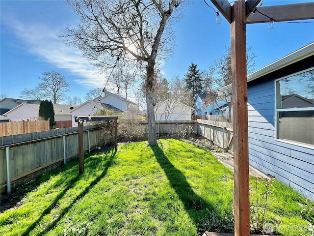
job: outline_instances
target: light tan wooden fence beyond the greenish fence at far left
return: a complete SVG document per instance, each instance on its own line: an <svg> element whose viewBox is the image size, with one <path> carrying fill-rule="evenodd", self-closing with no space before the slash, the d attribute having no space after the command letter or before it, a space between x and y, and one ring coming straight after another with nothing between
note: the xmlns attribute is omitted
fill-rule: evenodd
<svg viewBox="0 0 314 236"><path fill-rule="evenodd" d="M25 134L49 129L49 120L1 122L0 136Z"/></svg>

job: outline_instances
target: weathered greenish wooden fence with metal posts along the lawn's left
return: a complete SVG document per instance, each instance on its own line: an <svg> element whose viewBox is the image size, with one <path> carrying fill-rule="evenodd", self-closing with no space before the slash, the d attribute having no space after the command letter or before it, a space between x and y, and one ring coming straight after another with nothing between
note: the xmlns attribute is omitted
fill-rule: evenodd
<svg viewBox="0 0 314 236"><path fill-rule="evenodd" d="M111 141L100 125L84 126L84 151ZM0 137L0 191L40 176L78 156L78 127ZM10 181L7 181L10 179Z"/></svg>

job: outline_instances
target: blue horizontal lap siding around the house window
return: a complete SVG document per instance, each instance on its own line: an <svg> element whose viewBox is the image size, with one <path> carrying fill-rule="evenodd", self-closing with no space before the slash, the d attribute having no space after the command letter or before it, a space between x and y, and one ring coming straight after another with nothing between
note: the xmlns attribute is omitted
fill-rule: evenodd
<svg viewBox="0 0 314 236"><path fill-rule="evenodd" d="M314 200L314 148L275 140L274 80L302 69L292 66L248 83L249 162Z"/></svg>

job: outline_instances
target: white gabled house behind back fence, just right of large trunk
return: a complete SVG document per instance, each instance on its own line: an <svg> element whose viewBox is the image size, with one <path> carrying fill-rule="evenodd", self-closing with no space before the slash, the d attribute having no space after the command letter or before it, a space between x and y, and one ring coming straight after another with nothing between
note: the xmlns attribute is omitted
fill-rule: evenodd
<svg viewBox="0 0 314 236"><path fill-rule="evenodd" d="M174 99L167 99L155 105L156 120L190 120L194 108Z"/></svg>

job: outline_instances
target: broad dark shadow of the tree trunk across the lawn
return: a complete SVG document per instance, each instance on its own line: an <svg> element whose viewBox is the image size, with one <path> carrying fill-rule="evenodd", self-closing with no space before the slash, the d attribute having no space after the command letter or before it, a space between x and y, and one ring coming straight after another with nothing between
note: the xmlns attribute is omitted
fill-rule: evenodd
<svg viewBox="0 0 314 236"><path fill-rule="evenodd" d="M157 162L166 174L171 187L176 191L183 203L186 212L197 225L215 207L194 192L183 173L174 167L158 145L150 145L150 147L155 154Z"/></svg>

